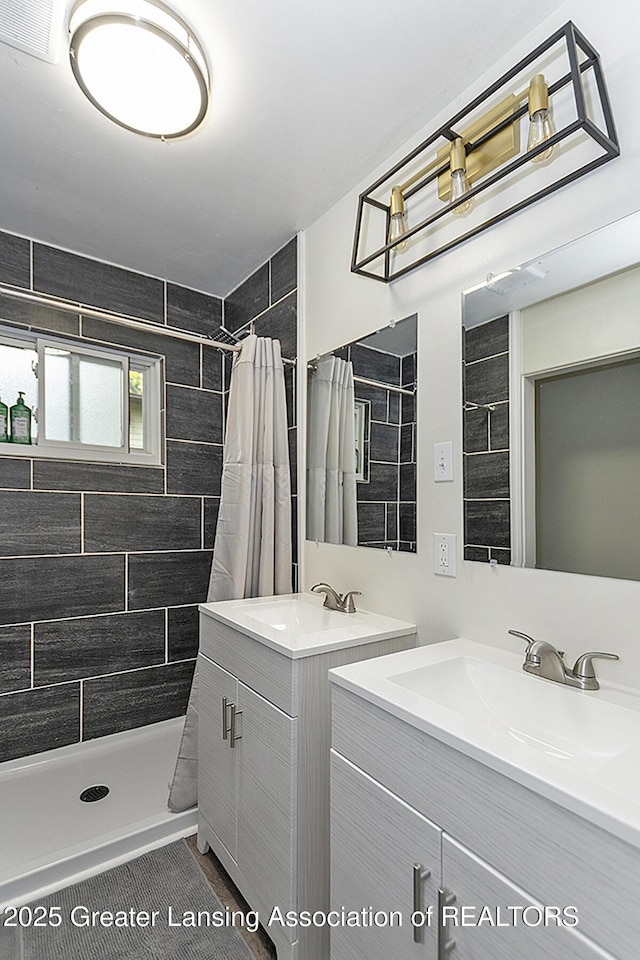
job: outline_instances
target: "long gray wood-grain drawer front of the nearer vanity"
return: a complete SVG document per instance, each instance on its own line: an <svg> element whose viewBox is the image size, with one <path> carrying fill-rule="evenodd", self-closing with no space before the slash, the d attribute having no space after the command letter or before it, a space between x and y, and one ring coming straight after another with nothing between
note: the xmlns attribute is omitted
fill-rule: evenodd
<svg viewBox="0 0 640 960"><path fill-rule="evenodd" d="M332 695L339 753L536 900L575 905L586 936L637 960L634 847L335 684Z"/></svg>

